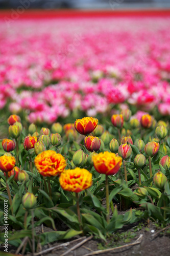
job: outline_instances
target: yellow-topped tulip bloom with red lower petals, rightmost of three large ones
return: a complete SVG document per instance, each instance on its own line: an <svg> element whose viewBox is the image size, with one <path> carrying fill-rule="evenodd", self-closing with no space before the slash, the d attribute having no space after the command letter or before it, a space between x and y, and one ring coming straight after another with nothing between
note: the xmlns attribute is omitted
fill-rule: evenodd
<svg viewBox="0 0 170 256"><path fill-rule="evenodd" d="M122 158L114 153L104 152L92 157L93 165L100 174L114 175L122 165Z"/></svg>

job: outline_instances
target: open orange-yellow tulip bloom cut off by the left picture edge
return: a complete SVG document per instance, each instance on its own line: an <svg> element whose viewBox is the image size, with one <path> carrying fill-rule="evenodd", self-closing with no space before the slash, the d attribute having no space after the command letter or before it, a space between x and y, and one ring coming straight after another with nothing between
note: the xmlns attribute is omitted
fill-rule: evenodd
<svg viewBox="0 0 170 256"><path fill-rule="evenodd" d="M0 157L0 169L7 173L10 172L15 166L15 157L11 156L1 156Z"/></svg>

